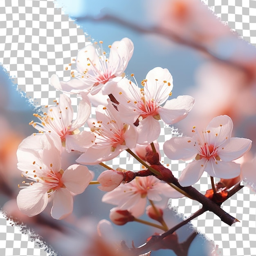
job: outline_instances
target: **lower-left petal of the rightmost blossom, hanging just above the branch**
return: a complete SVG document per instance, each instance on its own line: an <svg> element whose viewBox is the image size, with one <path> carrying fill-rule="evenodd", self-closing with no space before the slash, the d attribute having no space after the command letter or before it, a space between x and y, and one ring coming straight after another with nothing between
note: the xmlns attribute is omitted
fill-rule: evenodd
<svg viewBox="0 0 256 256"><path fill-rule="evenodd" d="M180 175L178 180L180 185L191 186L198 182L204 172L206 162L207 160L203 158L189 163Z"/></svg>

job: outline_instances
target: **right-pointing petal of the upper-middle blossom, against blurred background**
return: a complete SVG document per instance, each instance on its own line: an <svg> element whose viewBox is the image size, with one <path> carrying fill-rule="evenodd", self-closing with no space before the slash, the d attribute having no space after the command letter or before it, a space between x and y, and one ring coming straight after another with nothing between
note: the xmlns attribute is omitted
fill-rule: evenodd
<svg viewBox="0 0 256 256"><path fill-rule="evenodd" d="M177 99L166 101L165 105L159 108L161 119L166 124L175 124L184 119L194 106L195 100L188 95L178 96Z"/></svg>

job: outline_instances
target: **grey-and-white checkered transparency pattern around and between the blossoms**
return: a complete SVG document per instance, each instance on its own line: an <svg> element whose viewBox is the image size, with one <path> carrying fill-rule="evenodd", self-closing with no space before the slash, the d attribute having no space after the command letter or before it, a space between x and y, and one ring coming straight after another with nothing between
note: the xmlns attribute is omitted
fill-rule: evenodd
<svg viewBox="0 0 256 256"><path fill-rule="evenodd" d="M243 38L256 44L256 19L254 0L202 0L219 16L228 22ZM60 92L49 86L49 77L57 74L61 80L70 79L72 58L77 51L90 42L61 9L54 8L52 0L1 0L0 1L0 63L37 106L51 105ZM72 106L76 112L77 99L72 96ZM160 148L171 138L172 129L161 123ZM163 157L165 166L179 177L186 164ZM139 170L140 164L126 152L107 162L113 167ZM200 191L209 189L209 180L204 174L195 188ZM173 199L171 206L184 216L200 208L198 202L190 199ZM244 188L223 204L223 209L236 216L241 222L228 227L212 213L204 213L193 220L198 231L219 245L219 255L241 256L256 255L256 203L255 195ZM6 219L0 218L0 255L47 255L38 249L37 243L30 242L28 236L18 233ZM27 239L27 240L22 240ZM20 242L19 242L20 241ZM28 248L28 249L27 249ZM24 250L23 250L24 249ZM19 250L19 251L18 251ZM39 252L40 250L40 252Z"/></svg>

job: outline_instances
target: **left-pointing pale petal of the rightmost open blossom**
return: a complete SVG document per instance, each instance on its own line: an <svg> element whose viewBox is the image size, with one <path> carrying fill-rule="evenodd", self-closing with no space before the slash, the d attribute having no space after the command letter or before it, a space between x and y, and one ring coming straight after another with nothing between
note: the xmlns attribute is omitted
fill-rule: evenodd
<svg viewBox="0 0 256 256"><path fill-rule="evenodd" d="M164 153L169 159L189 160L195 157L194 140L191 137L172 137L164 142Z"/></svg>

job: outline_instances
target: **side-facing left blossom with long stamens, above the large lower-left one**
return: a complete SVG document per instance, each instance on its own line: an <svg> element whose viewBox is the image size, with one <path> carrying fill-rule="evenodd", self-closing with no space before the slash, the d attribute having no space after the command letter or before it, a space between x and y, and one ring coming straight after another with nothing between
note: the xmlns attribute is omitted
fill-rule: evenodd
<svg viewBox="0 0 256 256"><path fill-rule="evenodd" d="M48 108L44 116L34 114L40 122L31 121L29 124L34 126L39 132L55 133L61 137L63 146L67 152L71 152L76 145L76 150L83 150L84 147L92 145L94 135L92 132L79 131L90 117L91 104L88 97L83 93L83 99L79 102L77 118L73 119L73 108L71 100L65 94L61 94L59 103L56 101L56 106Z"/></svg>

